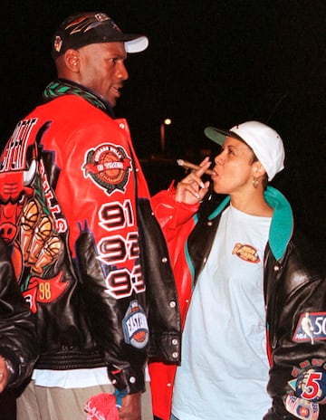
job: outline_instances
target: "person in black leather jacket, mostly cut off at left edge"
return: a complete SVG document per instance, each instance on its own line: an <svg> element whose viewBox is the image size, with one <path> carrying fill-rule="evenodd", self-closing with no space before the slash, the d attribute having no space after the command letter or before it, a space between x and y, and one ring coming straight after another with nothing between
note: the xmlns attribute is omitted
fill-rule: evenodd
<svg viewBox="0 0 326 420"><path fill-rule="evenodd" d="M14 278L14 267L0 237L0 413L14 419L13 389L32 373L37 358L34 316Z"/></svg>

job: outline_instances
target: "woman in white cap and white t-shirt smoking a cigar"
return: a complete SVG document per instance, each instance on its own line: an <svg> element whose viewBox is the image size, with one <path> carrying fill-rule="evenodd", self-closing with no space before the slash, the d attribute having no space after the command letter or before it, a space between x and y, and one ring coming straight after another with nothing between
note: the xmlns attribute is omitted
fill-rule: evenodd
<svg viewBox="0 0 326 420"><path fill-rule="evenodd" d="M225 199L206 196L208 158L153 198L184 321L177 373L149 365L155 418L169 419L172 397L178 420L325 418L324 279L291 206L266 187L283 169L282 138L258 121L205 134L222 145L211 182Z"/></svg>

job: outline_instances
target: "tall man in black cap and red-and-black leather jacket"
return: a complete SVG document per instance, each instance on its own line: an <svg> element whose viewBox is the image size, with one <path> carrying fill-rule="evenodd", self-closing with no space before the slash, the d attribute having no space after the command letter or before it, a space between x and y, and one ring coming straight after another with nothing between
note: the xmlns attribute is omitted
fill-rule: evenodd
<svg viewBox="0 0 326 420"><path fill-rule="evenodd" d="M120 418L137 420L149 354L178 362L168 250L127 121L112 112L127 52L148 43L107 14L68 17L53 36L58 80L5 147L2 207L14 209L0 223L41 341L19 419L84 419L91 396L115 391Z"/></svg>

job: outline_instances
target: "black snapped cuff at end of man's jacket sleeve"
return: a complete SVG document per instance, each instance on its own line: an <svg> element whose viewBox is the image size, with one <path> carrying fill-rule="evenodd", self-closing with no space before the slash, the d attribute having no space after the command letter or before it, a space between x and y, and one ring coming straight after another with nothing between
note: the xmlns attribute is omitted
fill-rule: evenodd
<svg viewBox="0 0 326 420"><path fill-rule="evenodd" d="M144 367L126 367L115 369L108 367L110 381L123 395L136 394L145 391Z"/></svg>

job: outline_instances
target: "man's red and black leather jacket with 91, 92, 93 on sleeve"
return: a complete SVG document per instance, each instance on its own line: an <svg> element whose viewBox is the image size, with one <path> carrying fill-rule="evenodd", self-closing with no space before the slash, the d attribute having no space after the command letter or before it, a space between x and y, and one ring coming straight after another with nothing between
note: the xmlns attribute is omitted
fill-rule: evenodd
<svg viewBox="0 0 326 420"><path fill-rule="evenodd" d="M107 366L128 393L154 355L179 359L168 249L125 119L53 81L14 129L0 166L0 225L37 317L37 368Z"/></svg>

